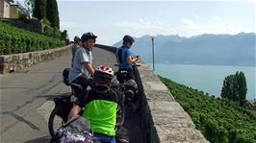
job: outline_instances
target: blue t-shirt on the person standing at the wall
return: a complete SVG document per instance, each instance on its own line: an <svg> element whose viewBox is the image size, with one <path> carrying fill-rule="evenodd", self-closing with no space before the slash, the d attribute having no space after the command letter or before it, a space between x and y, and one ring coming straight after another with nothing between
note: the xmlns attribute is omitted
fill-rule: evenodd
<svg viewBox="0 0 256 143"><path fill-rule="evenodd" d="M132 71L132 65L127 61L127 58L132 55L131 51L126 46L121 46L116 51L116 59L119 69Z"/></svg>

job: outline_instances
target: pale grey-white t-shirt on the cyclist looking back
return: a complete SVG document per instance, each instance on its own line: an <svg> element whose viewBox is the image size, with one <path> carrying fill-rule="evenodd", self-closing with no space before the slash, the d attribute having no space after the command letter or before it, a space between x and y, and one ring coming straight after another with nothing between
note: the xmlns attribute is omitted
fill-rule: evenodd
<svg viewBox="0 0 256 143"><path fill-rule="evenodd" d="M73 82L78 76L84 75L90 77L90 73L85 68L83 62L89 62L92 65L92 54L91 51L85 49L84 47L78 47L75 52L75 57L73 60L73 67L69 71L68 80L69 83Z"/></svg>

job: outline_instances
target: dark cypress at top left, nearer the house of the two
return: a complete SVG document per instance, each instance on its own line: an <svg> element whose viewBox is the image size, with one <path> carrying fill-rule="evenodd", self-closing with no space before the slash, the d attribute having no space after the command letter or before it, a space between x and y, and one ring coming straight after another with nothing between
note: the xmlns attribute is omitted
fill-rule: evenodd
<svg viewBox="0 0 256 143"><path fill-rule="evenodd" d="M46 1L45 0L35 0L35 6L33 10L33 16L38 18L38 20L43 19L46 15Z"/></svg>

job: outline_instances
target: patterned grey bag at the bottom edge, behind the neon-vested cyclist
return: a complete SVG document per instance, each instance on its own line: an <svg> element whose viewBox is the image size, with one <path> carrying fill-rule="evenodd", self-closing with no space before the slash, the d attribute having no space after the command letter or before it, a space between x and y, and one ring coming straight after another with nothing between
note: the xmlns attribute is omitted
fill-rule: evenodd
<svg viewBox="0 0 256 143"><path fill-rule="evenodd" d="M93 143L90 122L82 116L67 121L56 133L59 143Z"/></svg>

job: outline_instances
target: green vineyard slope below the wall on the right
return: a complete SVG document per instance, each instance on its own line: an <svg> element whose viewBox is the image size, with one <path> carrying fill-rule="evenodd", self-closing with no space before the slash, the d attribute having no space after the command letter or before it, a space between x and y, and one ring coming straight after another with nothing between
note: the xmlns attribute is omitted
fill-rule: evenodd
<svg viewBox="0 0 256 143"><path fill-rule="evenodd" d="M175 100L190 114L196 129L213 143L256 143L256 118L238 104L207 96L160 77Z"/></svg>

